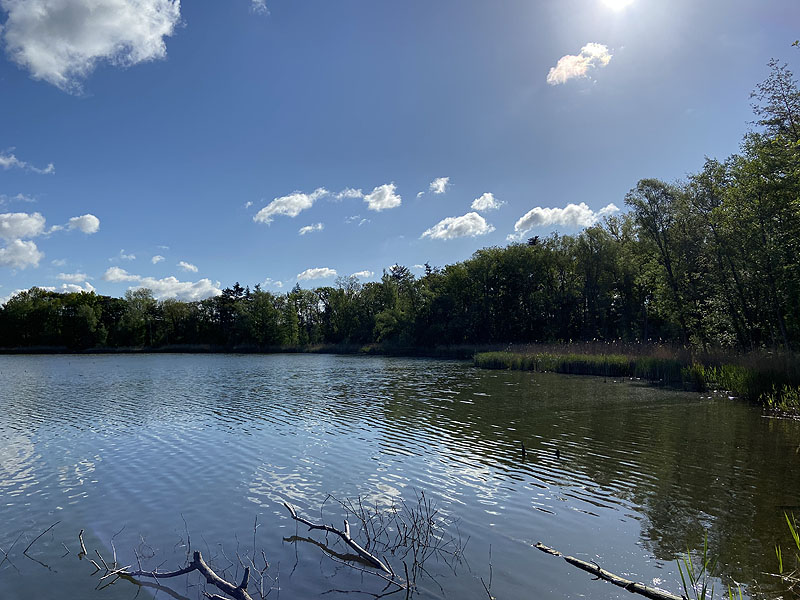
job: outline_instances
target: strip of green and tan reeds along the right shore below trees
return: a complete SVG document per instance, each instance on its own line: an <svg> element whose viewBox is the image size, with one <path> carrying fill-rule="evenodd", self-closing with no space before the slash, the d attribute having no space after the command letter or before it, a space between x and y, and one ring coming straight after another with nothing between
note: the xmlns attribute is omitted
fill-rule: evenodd
<svg viewBox="0 0 800 600"><path fill-rule="evenodd" d="M776 412L800 412L800 356L692 354L667 346L526 346L479 352L475 365L573 375L631 377L695 391L724 390Z"/></svg>

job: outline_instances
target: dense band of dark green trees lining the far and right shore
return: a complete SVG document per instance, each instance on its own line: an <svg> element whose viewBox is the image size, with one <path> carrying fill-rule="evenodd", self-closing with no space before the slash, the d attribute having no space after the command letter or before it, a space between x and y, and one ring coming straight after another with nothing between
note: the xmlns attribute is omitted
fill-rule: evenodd
<svg viewBox="0 0 800 600"><path fill-rule="evenodd" d="M772 61L741 150L676 183L643 179L628 211L577 235L484 248L419 277L273 294L236 283L197 302L32 288L0 310L0 347L399 346L663 340L800 345L800 89Z"/></svg>

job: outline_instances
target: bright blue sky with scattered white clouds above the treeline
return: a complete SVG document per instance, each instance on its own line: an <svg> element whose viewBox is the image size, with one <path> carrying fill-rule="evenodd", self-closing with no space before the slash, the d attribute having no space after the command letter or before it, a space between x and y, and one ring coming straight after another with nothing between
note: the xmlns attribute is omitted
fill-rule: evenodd
<svg viewBox="0 0 800 600"><path fill-rule="evenodd" d="M0 23L0 300L285 292L574 233L736 152L767 61L800 64L795 0L0 0Z"/></svg>

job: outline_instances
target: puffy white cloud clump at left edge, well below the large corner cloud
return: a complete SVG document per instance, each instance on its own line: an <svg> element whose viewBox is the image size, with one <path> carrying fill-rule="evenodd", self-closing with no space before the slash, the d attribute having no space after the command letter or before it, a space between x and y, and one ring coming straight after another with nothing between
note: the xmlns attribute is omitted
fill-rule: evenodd
<svg viewBox="0 0 800 600"><path fill-rule="evenodd" d="M38 267L44 253L31 238L64 228L56 225L45 231L45 218L38 212L0 214L0 239L6 242L5 247L0 248L0 266L14 269ZM66 228L79 229L86 234L95 233L100 228L100 219L88 214L73 217Z"/></svg>

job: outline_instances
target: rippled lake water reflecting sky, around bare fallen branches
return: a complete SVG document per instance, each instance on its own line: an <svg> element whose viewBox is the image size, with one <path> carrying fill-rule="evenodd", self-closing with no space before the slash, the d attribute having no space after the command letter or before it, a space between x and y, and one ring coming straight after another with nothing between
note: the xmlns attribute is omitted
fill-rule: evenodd
<svg viewBox="0 0 800 600"><path fill-rule="evenodd" d="M486 598L481 579L501 599L631 598L537 541L681 593L675 559L706 534L723 581L769 592L783 513L800 514L800 423L638 382L427 359L0 357L4 600L168 597L97 591L80 529L105 557L113 538L123 566L137 549L178 568L189 538L222 569L255 545L270 598L367 597L340 591L383 582L284 541L306 532L282 503L340 525L329 494L388 509L421 492L466 547L455 569L426 565L418 598ZM29 550L39 562L24 556L57 521ZM201 597L191 577L170 586Z"/></svg>

